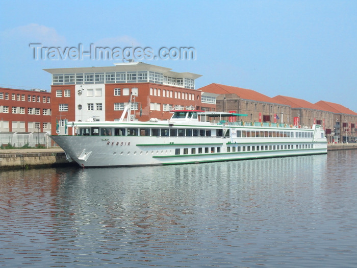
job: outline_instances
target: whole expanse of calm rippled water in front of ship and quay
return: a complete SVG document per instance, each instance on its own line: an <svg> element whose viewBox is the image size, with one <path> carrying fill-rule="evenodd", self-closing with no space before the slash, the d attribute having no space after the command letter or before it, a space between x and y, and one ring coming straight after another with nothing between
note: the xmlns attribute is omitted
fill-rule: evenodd
<svg viewBox="0 0 357 268"><path fill-rule="evenodd" d="M357 266L357 150L0 176L0 266Z"/></svg>

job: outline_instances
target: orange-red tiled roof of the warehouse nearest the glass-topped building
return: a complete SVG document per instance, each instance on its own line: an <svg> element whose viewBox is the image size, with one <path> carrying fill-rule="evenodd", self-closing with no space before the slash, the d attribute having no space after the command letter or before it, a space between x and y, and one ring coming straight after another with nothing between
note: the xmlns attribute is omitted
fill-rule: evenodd
<svg viewBox="0 0 357 268"><path fill-rule="evenodd" d="M199 88L199 90L208 93L215 94L236 94L239 98L244 100L252 100L258 102L267 102L267 103L276 103L272 98L263 95L257 91L251 89L245 89L234 86L225 86L221 84L210 84L204 87Z"/></svg>

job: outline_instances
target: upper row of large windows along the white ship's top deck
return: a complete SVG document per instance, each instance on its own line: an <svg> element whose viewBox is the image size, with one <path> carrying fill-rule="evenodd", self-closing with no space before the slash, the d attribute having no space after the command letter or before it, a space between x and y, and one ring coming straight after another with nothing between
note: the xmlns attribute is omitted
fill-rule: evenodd
<svg viewBox="0 0 357 268"><path fill-rule="evenodd" d="M175 129L175 128L81 128L79 135L85 136L157 136L157 137L211 137L212 130L210 129ZM237 137L294 137L294 131L250 131L237 130ZM216 130L216 137L223 136L223 129ZM295 137L312 138L312 132L298 131Z"/></svg>

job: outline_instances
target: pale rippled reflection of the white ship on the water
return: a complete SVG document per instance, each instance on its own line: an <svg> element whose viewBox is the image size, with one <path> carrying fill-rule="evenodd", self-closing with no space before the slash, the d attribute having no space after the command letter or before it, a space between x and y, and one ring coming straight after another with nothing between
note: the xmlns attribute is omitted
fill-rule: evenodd
<svg viewBox="0 0 357 268"><path fill-rule="evenodd" d="M307 169L311 166L325 169L326 155L200 165L84 169L80 170L78 181L72 181L66 188L71 188L70 193L75 196L71 198L72 208L82 211L82 214L73 214L78 223L98 221L104 229L135 230L148 235L155 230L189 228L187 222L197 223L197 218L194 219L197 215L200 221L209 221L210 210L224 214L237 200L249 210L256 205L254 199L259 195L279 191L283 194L286 189L292 189L296 180L312 185L320 174L315 174L314 168ZM282 177L282 173L288 176ZM77 184L74 189L73 183ZM210 207L217 200L221 200L220 205ZM206 210L197 211L197 207ZM100 215L103 211L106 214Z"/></svg>

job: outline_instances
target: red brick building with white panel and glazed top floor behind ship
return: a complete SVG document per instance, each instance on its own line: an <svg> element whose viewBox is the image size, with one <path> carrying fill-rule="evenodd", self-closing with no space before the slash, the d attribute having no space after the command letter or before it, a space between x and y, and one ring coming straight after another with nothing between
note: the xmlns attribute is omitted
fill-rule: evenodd
<svg viewBox="0 0 357 268"><path fill-rule="evenodd" d="M177 107L216 107L213 97L195 89L200 75L190 72L142 62L45 71L52 74L52 131L60 135L71 133L66 121L117 120L129 101L131 120L140 121L169 119Z"/></svg>

